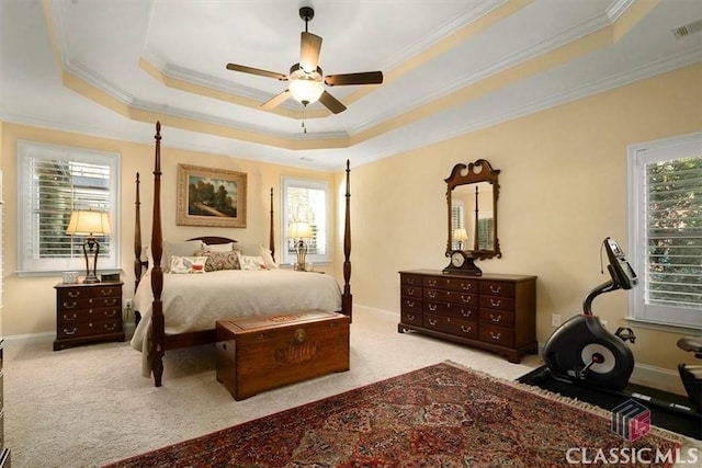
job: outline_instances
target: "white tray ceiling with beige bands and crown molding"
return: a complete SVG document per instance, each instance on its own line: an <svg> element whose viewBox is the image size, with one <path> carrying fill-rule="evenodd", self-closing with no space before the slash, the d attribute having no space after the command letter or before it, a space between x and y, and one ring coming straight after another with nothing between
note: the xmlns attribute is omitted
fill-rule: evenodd
<svg viewBox="0 0 702 468"><path fill-rule="evenodd" d="M298 61L301 5L348 110L258 105ZM700 0L0 0L0 118L339 170L702 61ZM693 28L693 27L692 27ZM302 132L302 117L307 133Z"/></svg>

